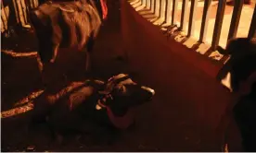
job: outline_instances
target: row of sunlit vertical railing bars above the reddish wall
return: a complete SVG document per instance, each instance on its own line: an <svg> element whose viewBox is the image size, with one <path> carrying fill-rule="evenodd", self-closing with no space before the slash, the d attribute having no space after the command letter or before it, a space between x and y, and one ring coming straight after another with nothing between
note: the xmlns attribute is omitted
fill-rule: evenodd
<svg viewBox="0 0 256 153"><path fill-rule="evenodd" d="M146 6L145 8L154 12L154 14L162 18L165 23L169 23L171 26L175 24L175 21L179 20L179 30L184 31L187 27L187 38L194 35L195 32L195 18L198 11L198 0L141 0L141 5ZM217 10L215 16L215 23L213 27L213 34L211 38L211 48L210 51L215 51L216 47L219 45L223 22L224 22L224 11L227 0L217 1ZM178 3L182 3L180 18L177 16ZM212 0L204 0L203 11L201 16L201 24L199 29L198 42L203 43L206 41L207 32L209 30L209 20L211 14L211 3ZM250 28L248 31L249 38L256 37L256 4L252 0L252 5L254 5L254 11L252 13ZM237 37L237 29L242 14L242 8L244 5L244 0L234 0L234 7L232 18L229 26L227 41ZM250 6L252 6L250 5ZM188 9L189 8L189 9ZM253 9L253 8L251 8ZM188 21L186 20L188 18ZM208 36L209 37L209 36Z"/></svg>

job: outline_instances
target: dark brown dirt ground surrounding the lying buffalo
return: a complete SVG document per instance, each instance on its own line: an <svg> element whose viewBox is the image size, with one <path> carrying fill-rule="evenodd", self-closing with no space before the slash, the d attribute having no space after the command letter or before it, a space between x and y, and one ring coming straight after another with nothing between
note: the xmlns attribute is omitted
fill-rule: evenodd
<svg viewBox="0 0 256 153"><path fill-rule="evenodd" d="M122 72L131 74L134 80L143 81L147 85L152 84L147 78L142 78L143 72L135 72L135 67L130 67L129 62L118 58L124 57L125 59L120 29L120 4L116 0L109 0L108 3L109 18L104 23L98 41L96 41L90 76L108 78ZM3 42L2 50L4 48L21 53L33 52L36 49L36 41L32 34L20 35L18 41ZM1 53L1 55L1 112L3 112L13 108L18 100L32 91L42 89L43 86L39 81L39 71L33 56L14 58L5 53ZM73 73L75 74L72 75L74 79L84 78L82 71ZM178 108L176 105L181 104L169 103L167 106L164 101L170 98L168 89L162 88L161 85L152 88L161 88L161 94L158 95L159 90L156 90L157 94L154 100L138 108L134 128L122 132L118 139L110 145L80 144L71 139L64 146L55 146L50 143L45 126L35 135L33 143L30 144L31 142L28 142L28 137L25 135L28 115L24 113L1 119L1 151L24 151L28 145L34 145L35 151L204 151L201 149L203 142L198 139L198 129L190 128L188 123L181 121L176 116L183 113L176 109ZM156 108L155 111L152 111L153 108ZM166 120L170 122L166 122ZM187 120L193 122L196 119Z"/></svg>

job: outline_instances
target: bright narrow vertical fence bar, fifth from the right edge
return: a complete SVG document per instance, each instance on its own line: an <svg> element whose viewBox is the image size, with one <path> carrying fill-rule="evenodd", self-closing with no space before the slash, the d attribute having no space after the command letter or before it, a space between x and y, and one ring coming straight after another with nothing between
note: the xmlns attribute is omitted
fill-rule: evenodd
<svg viewBox="0 0 256 153"><path fill-rule="evenodd" d="M198 6L198 0L191 0L188 31L187 31L188 37L194 34L197 6Z"/></svg>

